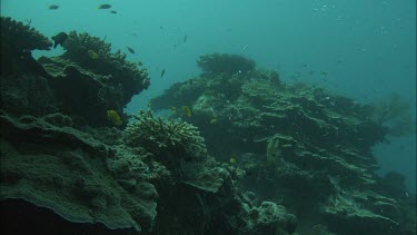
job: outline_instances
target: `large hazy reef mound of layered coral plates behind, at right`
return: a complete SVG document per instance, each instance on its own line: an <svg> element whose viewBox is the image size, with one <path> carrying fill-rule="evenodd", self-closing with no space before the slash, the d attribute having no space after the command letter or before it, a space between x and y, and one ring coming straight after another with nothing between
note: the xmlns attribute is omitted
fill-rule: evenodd
<svg viewBox="0 0 417 235"><path fill-rule="evenodd" d="M244 188L281 202L300 224L340 234L413 233L415 203L406 203L404 186L401 197L381 190L376 175L371 147L393 128L376 121L375 108L276 81L265 70L205 74L173 85L151 105L190 106L188 120L201 130L208 151L219 160L234 156L246 172Z"/></svg>

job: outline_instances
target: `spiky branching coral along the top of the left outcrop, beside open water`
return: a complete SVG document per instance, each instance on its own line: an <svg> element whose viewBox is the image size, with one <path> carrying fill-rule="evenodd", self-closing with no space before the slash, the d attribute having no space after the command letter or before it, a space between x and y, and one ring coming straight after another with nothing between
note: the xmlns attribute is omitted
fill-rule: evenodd
<svg viewBox="0 0 417 235"><path fill-rule="evenodd" d="M111 45L98 37L71 31L62 47L67 50L62 55L64 59L72 60L96 74L111 75L111 82L123 87L126 102L150 85L146 69L138 69L136 63L127 61L126 53L120 50L112 53Z"/></svg>

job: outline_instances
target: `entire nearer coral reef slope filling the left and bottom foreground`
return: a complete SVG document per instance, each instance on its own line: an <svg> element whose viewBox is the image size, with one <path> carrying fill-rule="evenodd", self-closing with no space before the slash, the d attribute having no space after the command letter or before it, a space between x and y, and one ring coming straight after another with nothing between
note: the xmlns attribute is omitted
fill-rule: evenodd
<svg viewBox="0 0 417 235"><path fill-rule="evenodd" d="M146 70L87 33L59 43L59 57L1 61L14 66L0 77L2 232L294 233L296 217L242 194L195 126L140 111L125 129Z"/></svg>

